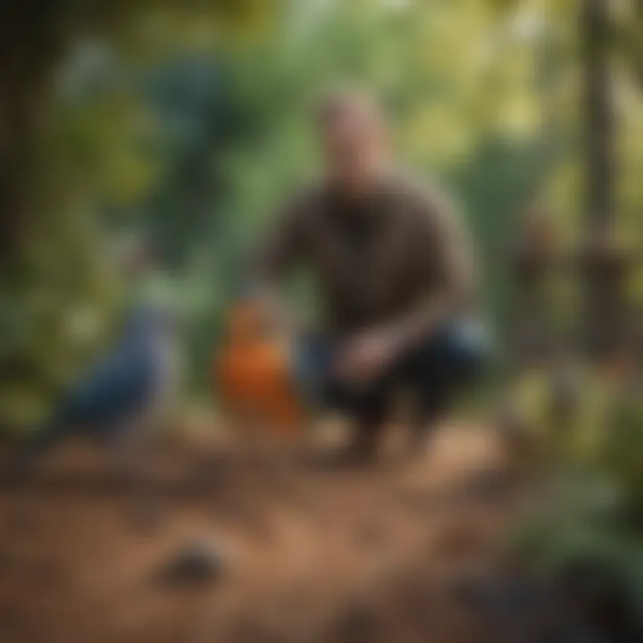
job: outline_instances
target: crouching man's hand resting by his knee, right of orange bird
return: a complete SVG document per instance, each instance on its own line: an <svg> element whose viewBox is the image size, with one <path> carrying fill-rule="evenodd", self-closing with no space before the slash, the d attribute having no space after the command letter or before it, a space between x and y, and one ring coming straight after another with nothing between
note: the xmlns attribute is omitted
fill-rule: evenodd
<svg viewBox="0 0 643 643"><path fill-rule="evenodd" d="M397 338L385 330L372 330L351 338L339 349L334 369L341 380L364 383L375 380L400 350Z"/></svg>

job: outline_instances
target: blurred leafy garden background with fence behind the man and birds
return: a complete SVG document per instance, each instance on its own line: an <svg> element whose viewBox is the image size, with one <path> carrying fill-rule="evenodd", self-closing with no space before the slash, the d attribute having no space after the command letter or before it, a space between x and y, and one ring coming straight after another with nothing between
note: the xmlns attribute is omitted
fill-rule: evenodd
<svg viewBox="0 0 643 643"><path fill-rule="evenodd" d="M400 159L453 191L479 248L501 357L480 422L502 408L516 453L523 425L530 436L536 426L556 484L560 471L596 482L575 479L570 491L586 536L596 504L627 505L627 519L600 514L614 532L601 531L597 548L612 560L628 543L619 569L639 605L643 574L630 579L643 569L638 0L38 6L0 9L4 433L46 417L141 297L180 319L181 409L207 417L211 363L248 253L319 162L313 105L338 81L356 82L391 113ZM132 280L123 257L141 242L153 270ZM305 284L292 296L313 310ZM567 438L572 425L580 438ZM542 527L571 516L569 505L549 509L530 528L547 541L538 551L549 562L576 555L577 531ZM588 542L579 547L595 551Z"/></svg>

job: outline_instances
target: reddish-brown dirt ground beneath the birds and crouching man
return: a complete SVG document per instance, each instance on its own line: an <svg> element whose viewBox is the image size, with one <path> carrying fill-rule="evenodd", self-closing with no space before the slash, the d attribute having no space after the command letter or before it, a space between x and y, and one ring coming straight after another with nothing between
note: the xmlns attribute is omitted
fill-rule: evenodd
<svg viewBox="0 0 643 643"><path fill-rule="evenodd" d="M312 447L172 442L154 501L85 448L0 493L2 643L501 640L456 590L495 563L517 503L480 484L498 461L488 431L455 423L412 463L356 470L309 462ZM215 547L221 574L162 582L190 543Z"/></svg>

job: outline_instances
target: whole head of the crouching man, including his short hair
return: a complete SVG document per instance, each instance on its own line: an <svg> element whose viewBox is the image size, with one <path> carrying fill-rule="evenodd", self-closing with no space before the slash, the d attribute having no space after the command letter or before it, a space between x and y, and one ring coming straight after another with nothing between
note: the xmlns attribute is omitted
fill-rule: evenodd
<svg viewBox="0 0 643 643"><path fill-rule="evenodd" d="M388 161L388 125L380 104L357 90L324 98L319 128L330 180L361 195Z"/></svg>

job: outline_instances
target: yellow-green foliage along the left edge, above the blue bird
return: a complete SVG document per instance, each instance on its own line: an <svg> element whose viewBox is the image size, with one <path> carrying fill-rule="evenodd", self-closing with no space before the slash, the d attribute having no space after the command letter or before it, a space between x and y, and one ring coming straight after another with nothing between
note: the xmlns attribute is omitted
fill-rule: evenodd
<svg viewBox="0 0 643 643"><path fill-rule="evenodd" d="M0 428L38 422L111 337L128 296L113 223L142 219L170 155L154 149L161 137L137 88L142 69L179 46L252 30L272 8L60 0L34 20L26 4L3 6L0 158L13 172L0 180Z"/></svg>

